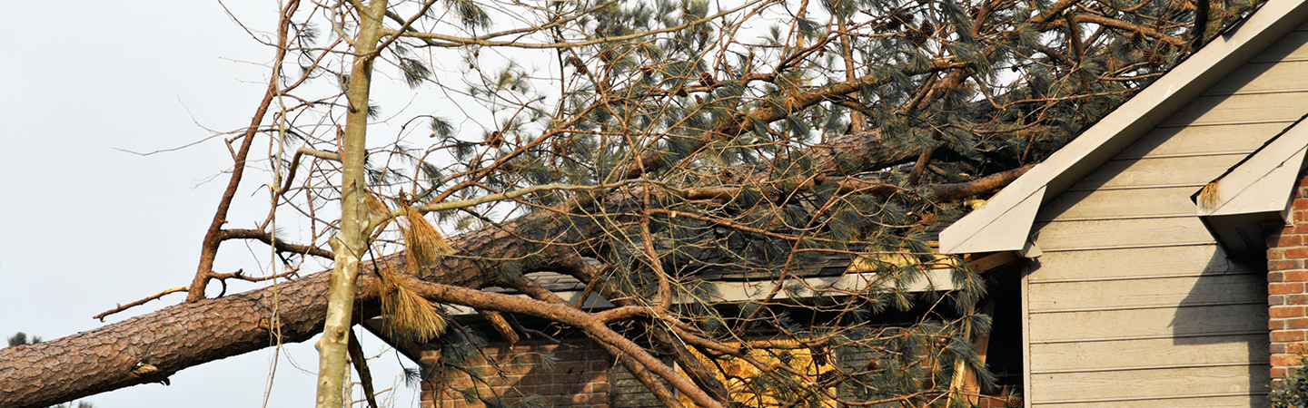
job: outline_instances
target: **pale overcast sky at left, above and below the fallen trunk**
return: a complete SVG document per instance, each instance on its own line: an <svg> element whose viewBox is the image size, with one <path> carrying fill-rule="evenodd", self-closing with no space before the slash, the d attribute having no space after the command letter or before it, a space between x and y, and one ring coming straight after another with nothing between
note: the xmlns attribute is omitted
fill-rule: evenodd
<svg viewBox="0 0 1308 408"><path fill-rule="evenodd" d="M246 25L271 30L275 1L224 3ZM264 89L271 59L217 1L7 1L0 7L0 335L52 340L106 323L92 315L186 286L232 165L221 140L149 152L242 128ZM208 129L207 129L208 128ZM247 180L262 184L262 180ZM230 220L262 220L237 208ZM228 243L216 269L258 271ZM242 254L246 252L246 254ZM245 289L255 288L252 285ZM107 323L175 305L171 294ZM315 339L317 340L317 339ZM311 340L313 341L313 340ZM111 407L269 407L314 399L310 343L264 349L183 370L171 386L146 384L88 398ZM369 353L381 341L364 339ZM395 407L416 407L396 383L398 357L373 366Z"/></svg>

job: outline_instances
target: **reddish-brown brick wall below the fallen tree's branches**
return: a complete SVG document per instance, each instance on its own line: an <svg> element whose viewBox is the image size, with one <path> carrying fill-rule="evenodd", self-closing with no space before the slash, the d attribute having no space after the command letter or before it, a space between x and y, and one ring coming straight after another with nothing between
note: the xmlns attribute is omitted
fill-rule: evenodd
<svg viewBox="0 0 1308 408"><path fill-rule="evenodd" d="M485 383L473 382L467 375L430 378L422 382L422 408L487 407L481 401L468 403L454 388L471 388L484 398L502 398L511 403L525 395L539 395L545 407L608 407L608 353L590 340L519 341L515 345L492 344L483 348L484 356L475 364ZM543 367L540 354L551 353L557 364ZM422 360L433 362L438 352L424 352ZM449 381L443 384L442 381Z"/></svg>

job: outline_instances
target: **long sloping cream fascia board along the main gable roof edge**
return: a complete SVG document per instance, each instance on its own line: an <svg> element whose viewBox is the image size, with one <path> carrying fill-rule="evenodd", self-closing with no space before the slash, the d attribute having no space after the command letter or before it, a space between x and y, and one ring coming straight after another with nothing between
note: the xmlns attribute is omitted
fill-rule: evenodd
<svg viewBox="0 0 1308 408"><path fill-rule="evenodd" d="M963 217L940 233L942 254L1018 251L1044 203L1080 180L1201 93L1308 20L1308 1L1270 0L1253 16L1214 38L1156 82L1113 110L1042 163L999 191L990 211ZM1036 196L1037 191L1041 196ZM1039 203L1032 205L1029 200ZM1015 212L1029 212L1018 214ZM997 222L998 217L1012 221ZM1014 221L1027 221L1014 225ZM1016 237L1010 237L1016 235Z"/></svg>

